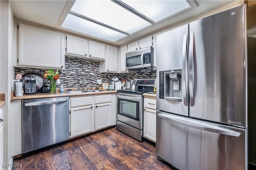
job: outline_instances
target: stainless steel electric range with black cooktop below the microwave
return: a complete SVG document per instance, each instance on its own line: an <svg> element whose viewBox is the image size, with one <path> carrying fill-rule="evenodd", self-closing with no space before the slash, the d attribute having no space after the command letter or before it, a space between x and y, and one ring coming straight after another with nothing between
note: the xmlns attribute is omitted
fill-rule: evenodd
<svg viewBox="0 0 256 170"><path fill-rule="evenodd" d="M138 90L117 90L116 129L142 141L143 93L153 92L156 79L136 79Z"/></svg>

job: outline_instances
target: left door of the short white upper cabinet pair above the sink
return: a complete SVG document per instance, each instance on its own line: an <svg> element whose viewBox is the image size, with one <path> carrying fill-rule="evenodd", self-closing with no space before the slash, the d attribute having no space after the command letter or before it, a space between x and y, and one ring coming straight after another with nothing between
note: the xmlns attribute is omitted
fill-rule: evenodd
<svg viewBox="0 0 256 170"><path fill-rule="evenodd" d="M88 41L86 39L67 35L66 53L87 56Z"/></svg>

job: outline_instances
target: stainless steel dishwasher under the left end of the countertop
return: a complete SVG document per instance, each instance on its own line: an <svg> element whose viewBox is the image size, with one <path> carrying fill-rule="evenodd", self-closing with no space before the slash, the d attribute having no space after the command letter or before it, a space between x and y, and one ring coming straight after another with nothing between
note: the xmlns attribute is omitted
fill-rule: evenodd
<svg viewBox="0 0 256 170"><path fill-rule="evenodd" d="M69 139L69 97L22 100L22 153Z"/></svg>

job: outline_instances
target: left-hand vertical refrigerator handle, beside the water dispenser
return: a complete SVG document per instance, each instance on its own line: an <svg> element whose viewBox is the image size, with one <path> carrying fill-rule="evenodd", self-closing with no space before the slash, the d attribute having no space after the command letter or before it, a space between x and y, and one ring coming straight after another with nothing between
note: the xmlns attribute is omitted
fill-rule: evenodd
<svg viewBox="0 0 256 170"><path fill-rule="evenodd" d="M182 96L183 96L183 102L185 106L188 106L188 86L187 86L187 68L186 68L186 60L188 57L188 34L185 34L183 37L183 46L182 46Z"/></svg>

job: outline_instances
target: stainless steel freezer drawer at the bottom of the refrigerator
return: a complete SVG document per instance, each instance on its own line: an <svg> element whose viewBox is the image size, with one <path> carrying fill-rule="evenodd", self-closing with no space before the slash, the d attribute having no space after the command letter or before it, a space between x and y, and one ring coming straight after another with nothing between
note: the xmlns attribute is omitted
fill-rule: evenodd
<svg viewBox="0 0 256 170"><path fill-rule="evenodd" d="M180 170L247 169L247 130L157 111L156 154Z"/></svg>

